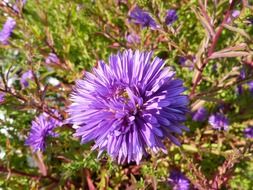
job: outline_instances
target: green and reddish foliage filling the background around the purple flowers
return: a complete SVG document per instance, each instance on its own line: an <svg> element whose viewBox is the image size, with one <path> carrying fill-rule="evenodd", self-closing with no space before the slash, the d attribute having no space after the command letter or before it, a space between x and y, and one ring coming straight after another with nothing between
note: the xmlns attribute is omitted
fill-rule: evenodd
<svg viewBox="0 0 253 190"><path fill-rule="evenodd" d="M252 188L251 141L242 132L253 124L253 95L246 85L253 80L253 25L247 22L253 5L229 0L137 1L162 26L155 31L129 21L133 0L28 0L20 13L11 8L14 3L0 2L0 23L7 15L17 22L10 44L0 46L1 76L10 88L0 105L0 187L167 189L169 172L178 169L197 189ZM165 13L172 8L179 19L166 26ZM232 10L239 10L239 17L223 23ZM126 40L133 32L140 36L139 43ZM98 60L127 48L152 50L166 60L184 80L192 111L204 105L211 114L222 106L230 119L229 131L215 131L189 115L190 132L180 137L182 147L165 142L167 155L151 154L138 166L119 166L106 155L97 159L90 144L80 145L68 125L57 129L58 138L48 139L43 155L24 146L36 115L48 107L67 118L75 80ZM51 52L59 57L59 65L45 64ZM180 65L180 57L194 66ZM240 80L242 69L246 78ZM24 89L20 77L27 70L37 78ZM243 94L236 93L238 84L244 85Z"/></svg>

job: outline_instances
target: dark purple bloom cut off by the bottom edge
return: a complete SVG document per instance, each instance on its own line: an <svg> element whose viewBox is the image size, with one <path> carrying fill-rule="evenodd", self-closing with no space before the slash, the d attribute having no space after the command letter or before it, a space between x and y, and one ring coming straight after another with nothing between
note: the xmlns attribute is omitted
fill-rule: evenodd
<svg viewBox="0 0 253 190"><path fill-rule="evenodd" d="M168 178L169 184L173 190L188 190L190 189L190 181L180 171L173 170Z"/></svg>

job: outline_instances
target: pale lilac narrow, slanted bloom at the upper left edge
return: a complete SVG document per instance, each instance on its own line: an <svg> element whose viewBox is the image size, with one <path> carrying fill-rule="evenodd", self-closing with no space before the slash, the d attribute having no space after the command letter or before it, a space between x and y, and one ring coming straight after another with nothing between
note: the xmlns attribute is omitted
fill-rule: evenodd
<svg viewBox="0 0 253 190"><path fill-rule="evenodd" d="M9 43L9 38L15 26L16 21L13 18L8 17L5 24L3 25L2 30L0 31L0 43L3 45L7 45Z"/></svg>

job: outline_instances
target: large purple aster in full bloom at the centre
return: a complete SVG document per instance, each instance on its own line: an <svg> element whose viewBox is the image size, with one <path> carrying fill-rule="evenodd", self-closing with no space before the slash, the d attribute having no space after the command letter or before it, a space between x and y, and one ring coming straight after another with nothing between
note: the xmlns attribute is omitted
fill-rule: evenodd
<svg viewBox="0 0 253 190"><path fill-rule="evenodd" d="M188 130L181 122L188 112L183 82L152 52L126 50L112 55L109 64L99 61L93 73L76 82L68 122L79 126L81 142L95 141L99 155L107 151L118 163L139 164L147 149L154 153L166 147L174 134Z"/></svg>

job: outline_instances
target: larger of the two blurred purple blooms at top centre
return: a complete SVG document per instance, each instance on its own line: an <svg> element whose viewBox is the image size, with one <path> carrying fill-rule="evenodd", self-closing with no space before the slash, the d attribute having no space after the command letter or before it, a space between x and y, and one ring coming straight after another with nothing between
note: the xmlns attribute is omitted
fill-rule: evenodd
<svg viewBox="0 0 253 190"><path fill-rule="evenodd" d="M138 6L136 6L130 12L129 16L134 23L140 24L143 28L150 27L153 30L159 28L155 20L150 16L150 14L140 9Z"/></svg>

